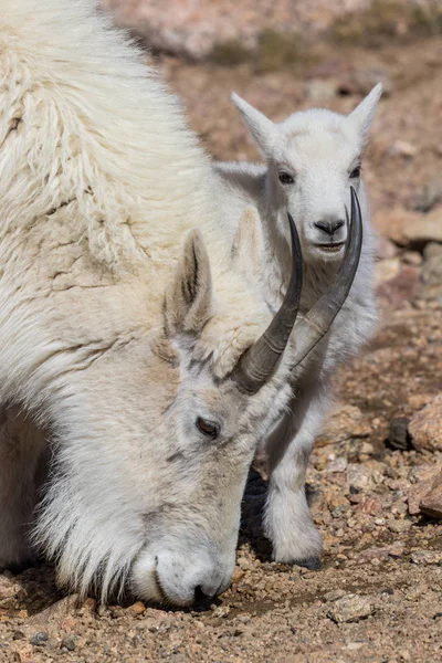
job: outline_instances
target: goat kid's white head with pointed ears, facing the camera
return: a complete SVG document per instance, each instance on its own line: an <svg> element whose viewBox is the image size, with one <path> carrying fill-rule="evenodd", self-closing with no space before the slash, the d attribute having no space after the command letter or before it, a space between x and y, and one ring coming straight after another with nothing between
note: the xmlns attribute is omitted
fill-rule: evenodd
<svg viewBox="0 0 442 663"><path fill-rule="evenodd" d="M232 96L266 159L267 202L274 211L288 209L293 215L306 261L343 259L350 186L359 189L362 152L381 92L378 84L347 117L312 109L281 124ZM286 233L285 227L278 230Z"/></svg>

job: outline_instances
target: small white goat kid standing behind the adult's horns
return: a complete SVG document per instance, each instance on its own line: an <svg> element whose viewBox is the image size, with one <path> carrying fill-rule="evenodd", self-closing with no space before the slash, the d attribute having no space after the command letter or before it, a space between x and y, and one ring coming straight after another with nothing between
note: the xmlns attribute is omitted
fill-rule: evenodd
<svg viewBox="0 0 442 663"><path fill-rule="evenodd" d="M281 304L290 274L287 209L304 255L302 313L326 292L344 254L344 246L326 252L318 245L328 244L332 236L315 223L346 220L350 185L358 191L364 219L362 253L349 297L329 333L295 370L291 412L266 442L271 478L264 522L278 561L318 564L322 541L304 488L308 455L329 404L329 382L336 367L358 351L376 326L373 236L364 183L355 169L361 161L380 94L379 84L348 117L312 109L295 113L281 124L232 96L266 164L220 164L223 187L219 201L233 248L238 236L249 234L245 244L250 249L243 249L240 262L271 311ZM285 180L290 176L285 183L280 181L282 173ZM343 223L333 241L339 244L346 236L347 224Z"/></svg>

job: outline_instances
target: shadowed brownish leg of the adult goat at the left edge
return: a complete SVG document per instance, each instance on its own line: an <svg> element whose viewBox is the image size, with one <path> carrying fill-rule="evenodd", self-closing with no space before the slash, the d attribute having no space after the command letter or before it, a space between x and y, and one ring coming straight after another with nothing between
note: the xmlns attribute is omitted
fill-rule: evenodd
<svg viewBox="0 0 442 663"><path fill-rule="evenodd" d="M45 448L44 434L17 408L0 410L0 570L35 557L29 533Z"/></svg>

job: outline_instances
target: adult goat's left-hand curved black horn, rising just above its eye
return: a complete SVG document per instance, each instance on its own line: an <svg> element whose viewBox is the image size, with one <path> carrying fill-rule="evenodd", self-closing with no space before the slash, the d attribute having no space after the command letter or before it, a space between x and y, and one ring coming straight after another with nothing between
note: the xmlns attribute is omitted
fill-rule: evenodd
<svg viewBox="0 0 442 663"><path fill-rule="evenodd" d="M292 275L284 302L264 334L236 364L232 377L244 393L256 393L274 373L295 325L303 287L303 254L295 222L288 223L292 239Z"/></svg>

